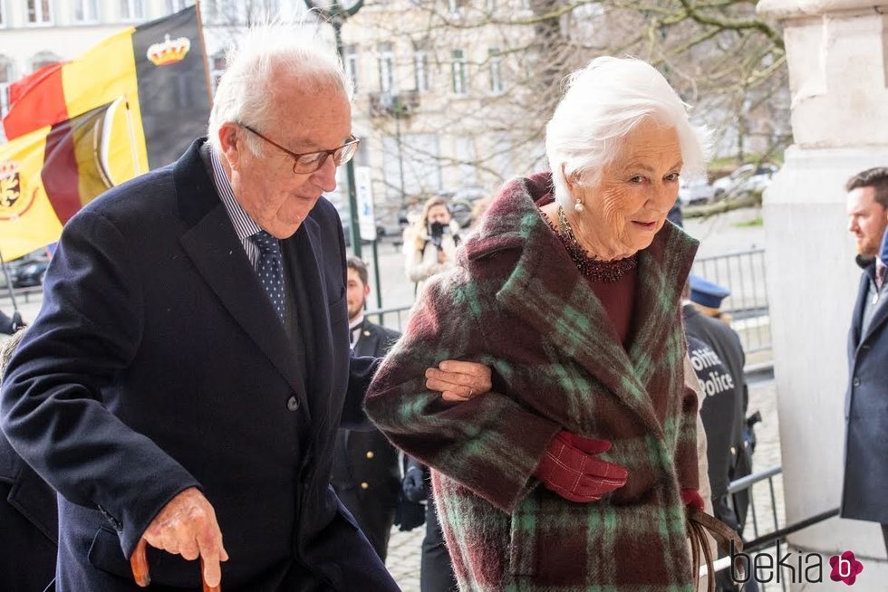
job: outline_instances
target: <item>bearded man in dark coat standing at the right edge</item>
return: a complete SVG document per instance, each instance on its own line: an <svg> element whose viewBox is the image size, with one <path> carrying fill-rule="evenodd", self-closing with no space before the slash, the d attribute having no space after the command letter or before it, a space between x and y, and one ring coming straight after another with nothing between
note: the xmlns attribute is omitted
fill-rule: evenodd
<svg viewBox="0 0 888 592"><path fill-rule="evenodd" d="M848 230L854 234L860 278L848 334L845 395L845 480L842 517L882 525L888 549L888 282L880 253L888 227L888 168L864 170L851 177Z"/></svg>

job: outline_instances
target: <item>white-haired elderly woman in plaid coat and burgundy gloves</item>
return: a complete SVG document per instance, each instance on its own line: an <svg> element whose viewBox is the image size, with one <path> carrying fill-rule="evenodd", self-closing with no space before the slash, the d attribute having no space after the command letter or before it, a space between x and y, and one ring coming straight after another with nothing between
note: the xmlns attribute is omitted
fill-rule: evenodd
<svg viewBox="0 0 888 592"><path fill-rule="evenodd" d="M461 589L690 592L684 512L702 501L680 294L697 243L666 215L700 140L659 72L598 58L546 151L552 172L507 183L430 280L366 408L435 469ZM489 365L493 389L431 392L440 358Z"/></svg>

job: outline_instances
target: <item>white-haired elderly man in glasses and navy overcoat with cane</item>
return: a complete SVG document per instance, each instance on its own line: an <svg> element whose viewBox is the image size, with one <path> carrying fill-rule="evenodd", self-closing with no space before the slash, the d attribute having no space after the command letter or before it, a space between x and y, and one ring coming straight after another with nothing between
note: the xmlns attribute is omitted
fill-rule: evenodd
<svg viewBox="0 0 888 592"><path fill-rule="evenodd" d="M64 229L2 396L15 450L61 494L60 592L136 589L146 545L157 589L397 589L329 486L376 360L350 352L320 197L357 148L350 85L303 37L248 33L208 140ZM446 398L489 388L449 364L428 373Z"/></svg>

